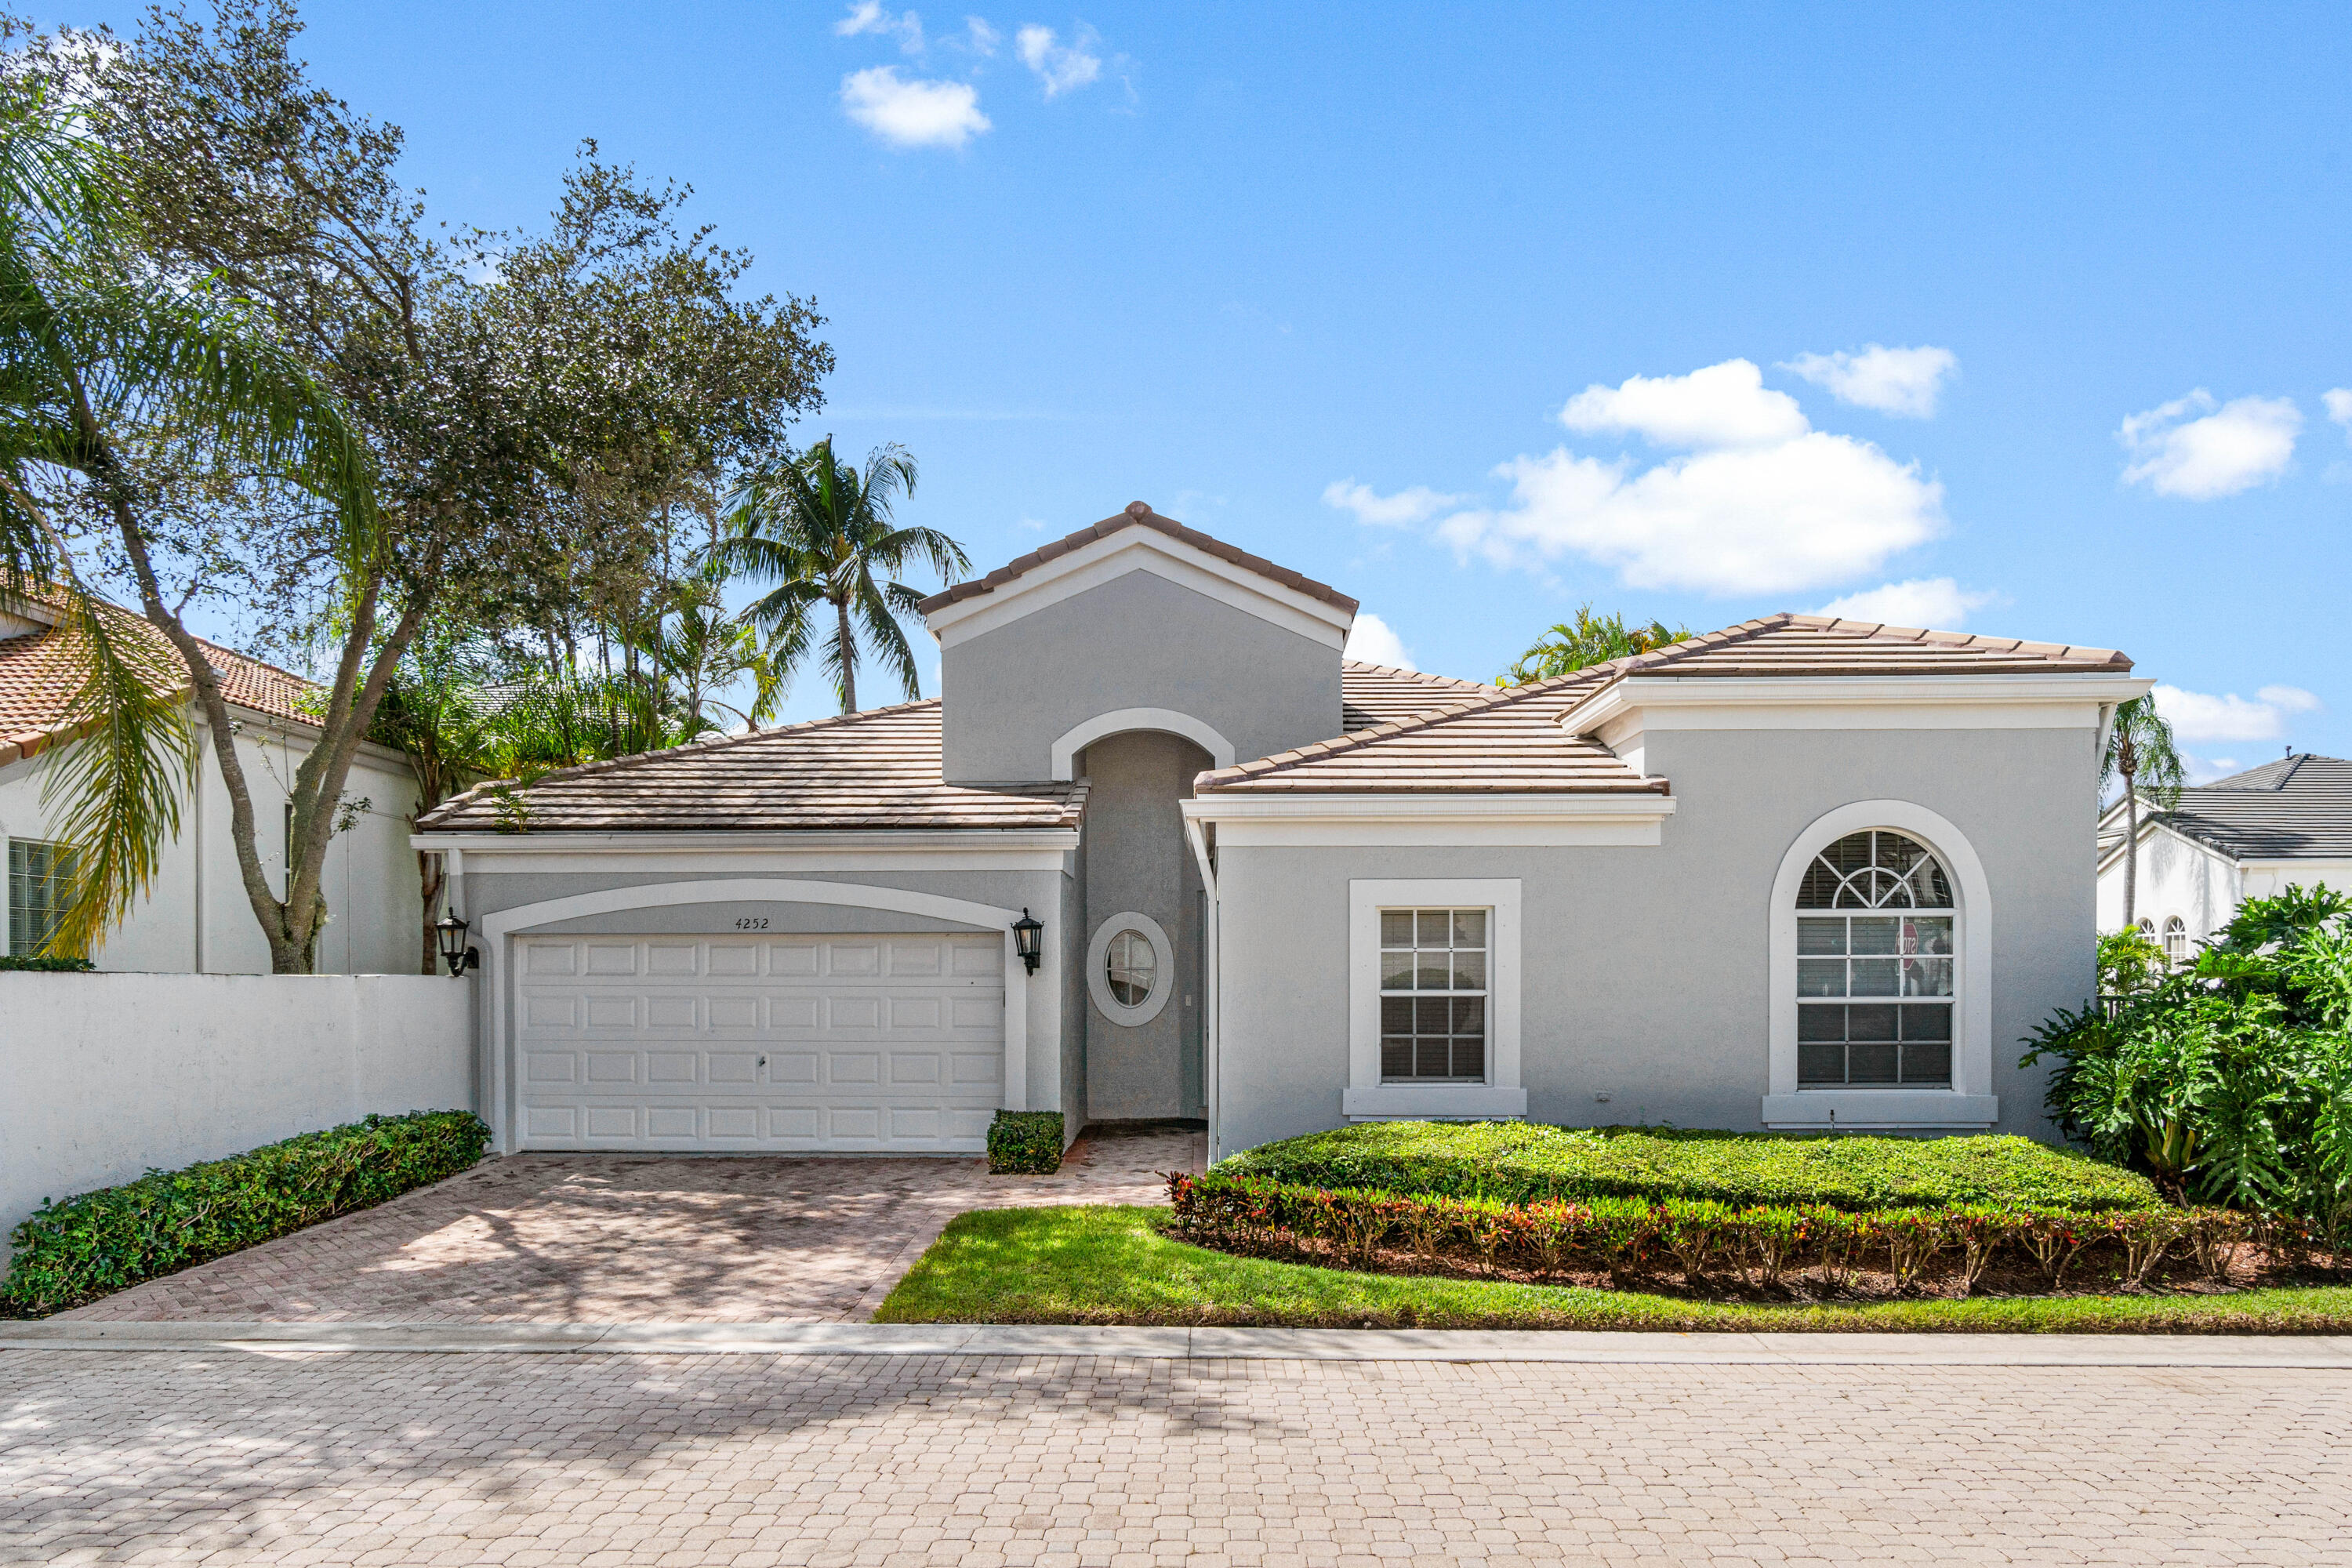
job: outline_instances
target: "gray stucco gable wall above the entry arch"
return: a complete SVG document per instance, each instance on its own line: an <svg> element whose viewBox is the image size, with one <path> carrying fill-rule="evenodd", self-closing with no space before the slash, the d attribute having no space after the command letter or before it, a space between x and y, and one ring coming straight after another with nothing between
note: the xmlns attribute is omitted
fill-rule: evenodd
<svg viewBox="0 0 2352 1568"><path fill-rule="evenodd" d="M1105 712L1167 708L1237 762L1341 731L1338 649L1129 571L941 649L953 780L1051 778L1054 741Z"/></svg>

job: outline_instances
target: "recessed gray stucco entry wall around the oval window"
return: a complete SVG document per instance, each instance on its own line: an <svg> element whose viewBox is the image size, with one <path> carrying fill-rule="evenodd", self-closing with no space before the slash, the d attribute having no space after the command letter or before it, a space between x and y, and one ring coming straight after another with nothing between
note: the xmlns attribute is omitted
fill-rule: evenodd
<svg viewBox="0 0 2352 1568"><path fill-rule="evenodd" d="M1197 1117L1200 1095L1200 867L1176 802L1209 757L1178 736L1127 733L1087 748L1087 940L1115 914L1160 922L1174 947L1169 999L1124 1025L1087 999L1087 1117Z"/></svg>

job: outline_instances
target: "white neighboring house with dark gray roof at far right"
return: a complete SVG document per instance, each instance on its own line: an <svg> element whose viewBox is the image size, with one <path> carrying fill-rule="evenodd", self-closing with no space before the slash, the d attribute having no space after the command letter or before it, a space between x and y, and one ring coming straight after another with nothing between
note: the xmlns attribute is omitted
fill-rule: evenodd
<svg viewBox="0 0 2352 1568"><path fill-rule="evenodd" d="M2124 924L2124 802L2098 820L2098 929ZM2286 886L2352 893L2352 762L2288 752L2180 792L2164 811L2140 795L2133 917L2176 964L2237 905Z"/></svg>

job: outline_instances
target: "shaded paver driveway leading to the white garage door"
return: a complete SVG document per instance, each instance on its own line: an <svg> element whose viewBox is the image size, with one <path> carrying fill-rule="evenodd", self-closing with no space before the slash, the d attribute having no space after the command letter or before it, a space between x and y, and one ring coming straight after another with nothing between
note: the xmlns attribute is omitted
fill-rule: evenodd
<svg viewBox="0 0 2352 1568"><path fill-rule="evenodd" d="M1181 1128L1089 1131L1058 1175L983 1159L515 1154L73 1319L854 1321L967 1208L1162 1204Z"/></svg>

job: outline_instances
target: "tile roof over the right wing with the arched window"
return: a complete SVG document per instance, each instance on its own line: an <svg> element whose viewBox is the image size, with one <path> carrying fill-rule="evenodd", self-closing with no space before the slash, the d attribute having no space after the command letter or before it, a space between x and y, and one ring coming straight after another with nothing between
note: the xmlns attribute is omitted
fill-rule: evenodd
<svg viewBox="0 0 2352 1568"><path fill-rule="evenodd" d="M2124 675L2112 649L1926 632L1830 616L1764 616L1611 658L1548 682L1477 696L1279 757L1202 773L1197 792L1357 790L1658 790L1588 736L1559 724L1628 675Z"/></svg>

